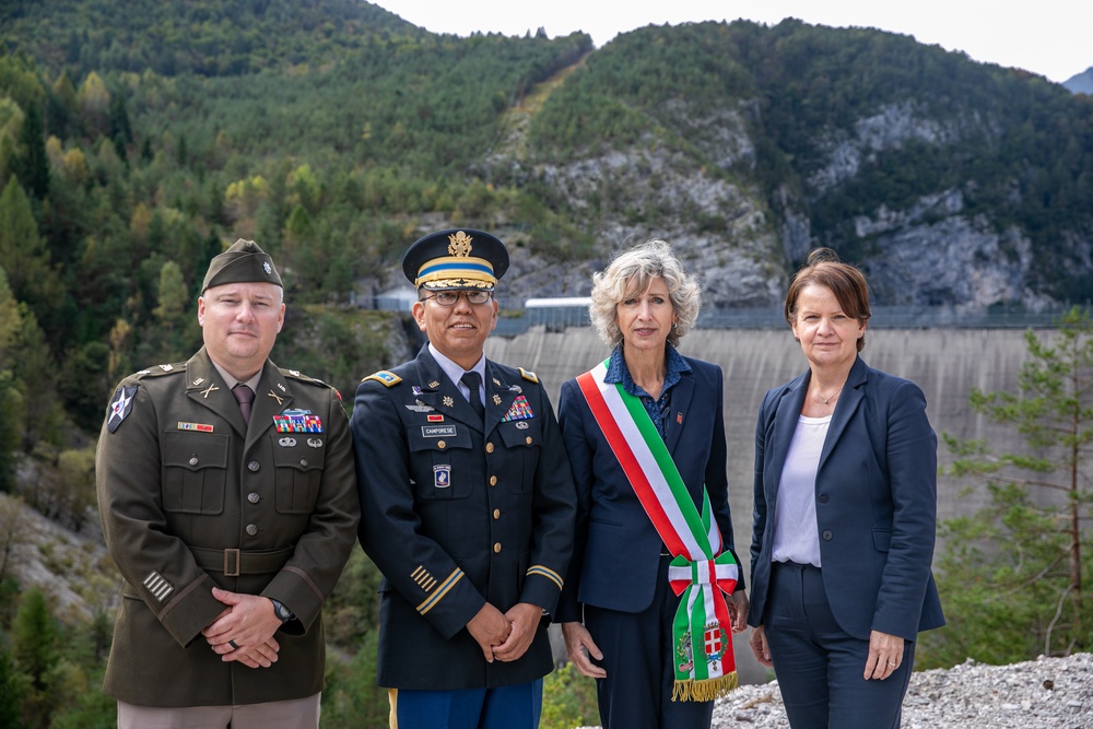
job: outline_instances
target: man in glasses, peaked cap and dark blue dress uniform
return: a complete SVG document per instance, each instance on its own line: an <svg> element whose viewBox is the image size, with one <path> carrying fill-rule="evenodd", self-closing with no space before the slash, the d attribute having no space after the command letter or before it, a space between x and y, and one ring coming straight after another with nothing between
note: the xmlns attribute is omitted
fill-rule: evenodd
<svg viewBox="0 0 1093 729"><path fill-rule="evenodd" d="M442 231L402 259L428 343L357 388L361 544L384 573L379 685L398 729L533 729L575 493L533 373L485 358L508 252Z"/></svg>

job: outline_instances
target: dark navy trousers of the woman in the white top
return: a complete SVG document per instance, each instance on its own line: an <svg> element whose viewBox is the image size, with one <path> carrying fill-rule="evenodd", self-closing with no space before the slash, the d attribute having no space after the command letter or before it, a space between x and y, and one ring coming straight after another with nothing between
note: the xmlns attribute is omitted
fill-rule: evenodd
<svg viewBox="0 0 1093 729"><path fill-rule="evenodd" d="M862 678L869 640L848 635L835 622L818 567L772 565L763 624L794 729L900 726L914 642L904 642L903 661L889 678Z"/></svg>

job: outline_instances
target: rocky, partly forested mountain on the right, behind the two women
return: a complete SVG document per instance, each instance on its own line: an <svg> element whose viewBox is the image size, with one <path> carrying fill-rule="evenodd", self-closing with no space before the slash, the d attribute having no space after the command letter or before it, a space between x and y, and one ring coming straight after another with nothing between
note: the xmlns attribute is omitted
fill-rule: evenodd
<svg viewBox="0 0 1093 729"><path fill-rule="evenodd" d="M682 245L717 306L774 303L822 244L880 303L1039 307L1093 293L1091 108L877 31L650 27L550 95L517 179L583 219L600 252L650 234Z"/></svg>

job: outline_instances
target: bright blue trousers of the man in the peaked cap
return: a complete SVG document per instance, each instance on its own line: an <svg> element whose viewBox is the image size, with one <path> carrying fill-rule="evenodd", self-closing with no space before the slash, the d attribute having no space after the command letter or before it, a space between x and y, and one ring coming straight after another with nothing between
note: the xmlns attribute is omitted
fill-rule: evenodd
<svg viewBox="0 0 1093 729"><path fill-rule="evenodd" d="M536 729L543 681L496 689L391 689L391 729Z"/></svg>

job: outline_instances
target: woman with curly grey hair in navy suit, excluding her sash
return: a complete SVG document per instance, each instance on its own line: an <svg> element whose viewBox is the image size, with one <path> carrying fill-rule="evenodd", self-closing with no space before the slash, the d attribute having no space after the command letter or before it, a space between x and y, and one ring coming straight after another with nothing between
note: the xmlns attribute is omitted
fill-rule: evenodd
<svg viewBox="0 0 1093 729"><path fill-rule="evenodd" d="M675 349L697 319L697 284L659 240L622 254L593 282L592 324L613 348L604 381L640 399L698 509L705 484L731 550L721 369ZM577 533L555 618L574 666L597 679L601 724L709 727L713 701L672 701L680 599L668 584L671 555L576 379L562 386L559 423L577 486ZM727 607L732 630L745 630L742 579Z"/></svg>

